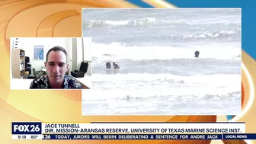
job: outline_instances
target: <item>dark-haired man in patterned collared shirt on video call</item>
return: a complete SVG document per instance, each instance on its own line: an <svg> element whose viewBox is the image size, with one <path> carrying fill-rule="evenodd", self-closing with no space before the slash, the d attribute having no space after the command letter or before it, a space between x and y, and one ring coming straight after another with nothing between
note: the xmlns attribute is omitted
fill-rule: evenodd
<svg viewBox="0 0 256 144"><path fill-rule="evenodd" d="M80 82L65 75L69 64L67 64L67 53L61 46L54 46L46 54L47 75L36 78L31 82L30 89L34 88L82 88Z"/></svg>

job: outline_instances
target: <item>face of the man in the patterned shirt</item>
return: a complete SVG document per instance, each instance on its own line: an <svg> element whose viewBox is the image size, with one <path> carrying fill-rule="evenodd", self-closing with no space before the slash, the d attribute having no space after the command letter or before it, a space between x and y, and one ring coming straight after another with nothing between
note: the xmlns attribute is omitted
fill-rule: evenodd
<svg viewBox="0 0 256 144"><path fill-rule="evenodd" d="M62 51L51 51L48 55L48 62L45 62L47 75L50 82L62 83L66 70L66 55Z"/></svg>

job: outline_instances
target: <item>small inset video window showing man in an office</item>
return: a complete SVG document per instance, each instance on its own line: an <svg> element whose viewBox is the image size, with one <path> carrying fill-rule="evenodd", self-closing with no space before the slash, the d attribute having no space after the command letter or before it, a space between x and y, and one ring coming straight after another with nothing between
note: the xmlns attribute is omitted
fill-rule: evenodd
<svg viewBox="0 0 256 144"><path fill-rule="evenodd" d="M91 88L91 38L11 37L11 89Z"/></svg>

